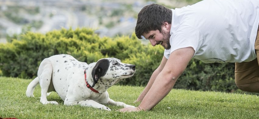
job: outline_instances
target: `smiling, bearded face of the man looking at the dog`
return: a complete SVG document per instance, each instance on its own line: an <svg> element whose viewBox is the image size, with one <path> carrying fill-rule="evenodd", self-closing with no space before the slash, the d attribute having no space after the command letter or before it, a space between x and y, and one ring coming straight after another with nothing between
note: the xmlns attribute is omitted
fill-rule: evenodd
<svg viewBox="0 0 259 119"><path fill-rule="evenodd" d="M152 46L155 45L162 45L165 49L169 50L171 48L169 39L170 39L170 33L169 31L163 30L161 33L159 30L151 30L149 33L144 33L143 36L145 39L148 39Z"/></svg>

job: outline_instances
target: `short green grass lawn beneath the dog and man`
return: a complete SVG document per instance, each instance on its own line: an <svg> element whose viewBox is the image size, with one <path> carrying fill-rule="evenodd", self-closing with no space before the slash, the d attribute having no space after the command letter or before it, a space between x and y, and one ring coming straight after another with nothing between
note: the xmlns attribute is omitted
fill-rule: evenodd
<svg viewBox="0 0 259 119"><path fill-rule="evenodd" d="M19 119L255 119L259 118L259 98L255 95L219 92L201 92L173 89L151 111L121 113L122 107L106 105L112 111L91 107L65 106L57 93L48 100L59 105L40 103L40 86L34 91L35 98L26 97L31 80L0 77L0 117ZM108 89L115 101L133 103L144 87L112 86Z"/></svg>

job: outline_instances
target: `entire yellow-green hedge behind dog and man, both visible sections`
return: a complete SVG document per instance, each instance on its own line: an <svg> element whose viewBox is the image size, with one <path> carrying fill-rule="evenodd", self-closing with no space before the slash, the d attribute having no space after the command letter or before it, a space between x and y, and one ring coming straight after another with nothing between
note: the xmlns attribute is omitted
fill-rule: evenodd
<svg viewBox="0 0 259 119"><path fill-rule="evenodd" d="M163 47L144 45L135 34L100 38L87 28L55 30L46 34L27 32L20 35L19 40L0 44L0 70L7 77L30 79L37 76L40 62L51 55L70 54L88 64L100 58L115 57L136 65L135 76L119 84L145 86L160 64L163 53ZM237 89L234 64L205 64L192 59L175 88L233 92Z"/></svg>

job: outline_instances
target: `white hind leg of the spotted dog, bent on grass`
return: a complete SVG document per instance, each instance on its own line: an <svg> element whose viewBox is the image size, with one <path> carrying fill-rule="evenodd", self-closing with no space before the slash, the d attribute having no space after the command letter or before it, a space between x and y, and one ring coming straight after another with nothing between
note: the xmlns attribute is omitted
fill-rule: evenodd
<svg viewBox="0 0 259 119"><path fill-rule="evenodd" d="M53 71L53 68L51 65L51 61L49 61L48 58L44 59L41 62L38 70L38 77L39 77L39 82L41 86L41 103L43 104L48 104L48 103L59 104L56 101L47 100L47 93L48 93L49 86L51 84L52 71Z"/></svg>

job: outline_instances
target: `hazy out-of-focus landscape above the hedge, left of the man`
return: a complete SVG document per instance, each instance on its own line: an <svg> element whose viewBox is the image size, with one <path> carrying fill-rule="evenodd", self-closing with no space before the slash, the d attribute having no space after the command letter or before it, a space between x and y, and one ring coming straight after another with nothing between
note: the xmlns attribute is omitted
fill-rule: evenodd
<svg viewBox="0 0 259 119"><path fill-rule="evenodd" d="M198 0L0 0L0 43L26 31L87 27L100 37L131 35L138 12L152 3L170 9Z"/></svg>

